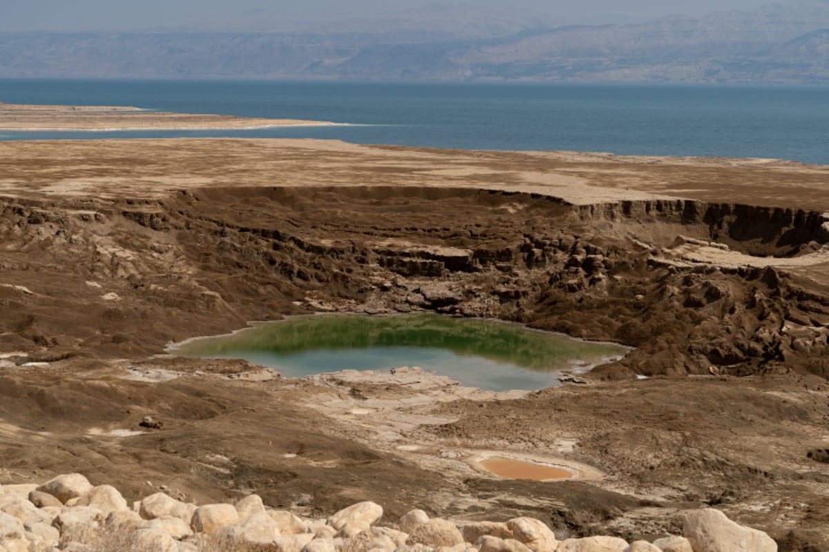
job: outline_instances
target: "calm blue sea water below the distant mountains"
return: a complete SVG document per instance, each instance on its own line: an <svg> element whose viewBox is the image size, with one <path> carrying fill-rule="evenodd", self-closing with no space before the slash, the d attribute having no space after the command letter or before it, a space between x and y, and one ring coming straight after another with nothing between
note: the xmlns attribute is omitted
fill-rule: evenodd
<svg viewBox="0 0 829 552"><path fill-rule="evenodd" d="M771 157L829 165L829 89L820 86L0 79L0 102L130 105L354 125L2 132L0 140L314 137L459 149Z"/></svg>

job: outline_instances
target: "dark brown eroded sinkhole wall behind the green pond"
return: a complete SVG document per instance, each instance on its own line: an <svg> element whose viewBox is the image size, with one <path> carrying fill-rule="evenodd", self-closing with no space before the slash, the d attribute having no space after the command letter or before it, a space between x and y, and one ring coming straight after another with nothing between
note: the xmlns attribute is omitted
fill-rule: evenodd
<svg viewBox="0 0 829 552"><path fill-rule="evenodd" d="M599 377L829 375L817 213L277 187L5 199L0 216L2 347L30 359L143 356L314 310L434 310L637 348Z"/></svg>

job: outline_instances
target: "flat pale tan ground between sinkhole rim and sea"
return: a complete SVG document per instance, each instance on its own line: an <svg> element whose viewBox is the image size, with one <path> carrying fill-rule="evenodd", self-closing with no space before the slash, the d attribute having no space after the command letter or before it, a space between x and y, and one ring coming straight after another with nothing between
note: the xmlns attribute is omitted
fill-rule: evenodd
<svg viewBox="0 0 829 552"><path fill-rule="evenodd" d="M829 166L753 159L458 151L333 140L0 142L0 193L162 197L221 186L417 186L550 195L571 204L698 199L829 211Z"/></svg>

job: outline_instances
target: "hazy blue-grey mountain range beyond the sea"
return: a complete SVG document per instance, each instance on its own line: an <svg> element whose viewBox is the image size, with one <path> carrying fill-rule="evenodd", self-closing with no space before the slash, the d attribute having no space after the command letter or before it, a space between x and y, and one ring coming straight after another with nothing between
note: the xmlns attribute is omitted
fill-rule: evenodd
<svg viewBox="0 0 829 552"><path fill-rule="evenodd" d="M829 0L563 25L429 7L337 22L268 11L131 32L0 33L0 77L829 82Z"/></svg>

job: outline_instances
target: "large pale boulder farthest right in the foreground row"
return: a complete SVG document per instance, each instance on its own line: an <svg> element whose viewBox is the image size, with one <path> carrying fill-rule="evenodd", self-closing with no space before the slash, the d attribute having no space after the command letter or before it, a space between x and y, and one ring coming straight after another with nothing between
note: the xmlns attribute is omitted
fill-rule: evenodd
<svg viewBox="0 0 829 552"><path fill-rule="evenodd" d="M694 552L777 552L777 543L761 530L741 526L714 508L692 511L682 532Z"/></svg>

